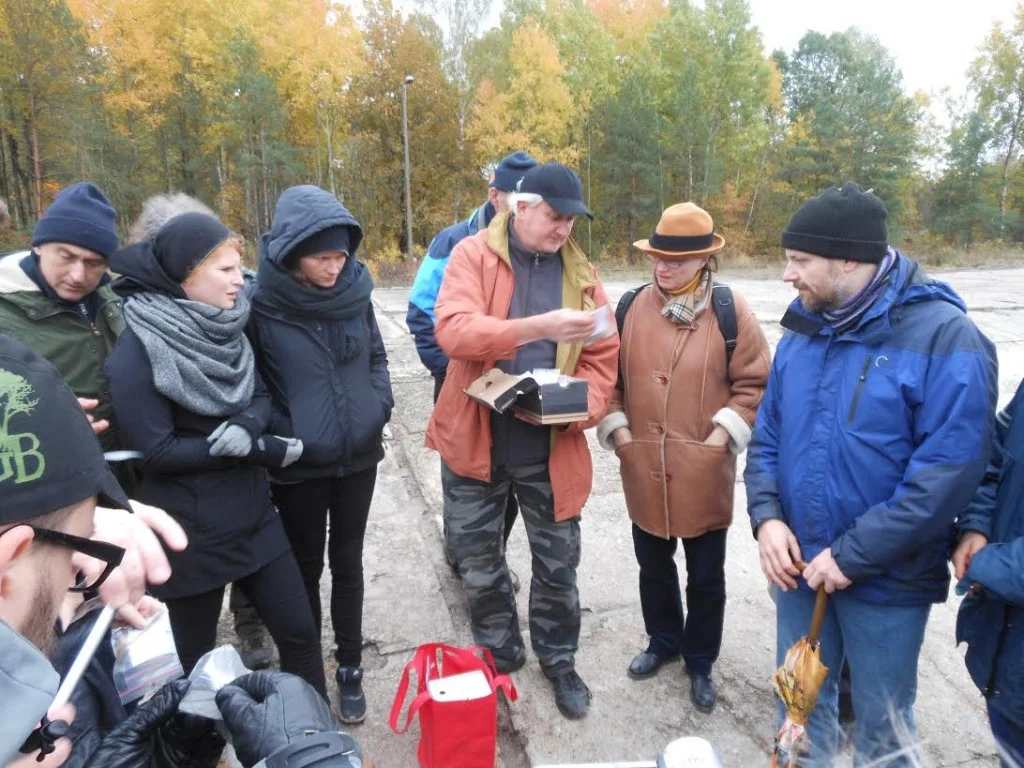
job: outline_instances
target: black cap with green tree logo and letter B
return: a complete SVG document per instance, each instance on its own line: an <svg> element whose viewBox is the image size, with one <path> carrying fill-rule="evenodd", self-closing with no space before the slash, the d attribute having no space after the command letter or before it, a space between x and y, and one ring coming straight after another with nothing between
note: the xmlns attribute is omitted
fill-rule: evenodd
<svg viewBox="0 0 1024 768"><path fill-rule="evenodd" d="M131 511L99 440L56 370L0 336L0 525L98 496Z"/></svg>

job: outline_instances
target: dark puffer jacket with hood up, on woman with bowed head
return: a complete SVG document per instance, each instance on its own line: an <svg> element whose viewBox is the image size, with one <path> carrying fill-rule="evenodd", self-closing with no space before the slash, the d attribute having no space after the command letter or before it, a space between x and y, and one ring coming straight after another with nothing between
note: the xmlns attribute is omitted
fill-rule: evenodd
<svg viewBox="0 0 1024 768"><path fill-rule="evenodd" d="M349 258L334 288L302 286L282 262L306 238L349 228ZM278 201L260 242L250 338L273 400L270 431L298 437L302 458L272 478L338 477L384 458L381 432L394 399L387 353L374 315L373 280L354 254L362 230L334 196L293 186Z"/></svg>

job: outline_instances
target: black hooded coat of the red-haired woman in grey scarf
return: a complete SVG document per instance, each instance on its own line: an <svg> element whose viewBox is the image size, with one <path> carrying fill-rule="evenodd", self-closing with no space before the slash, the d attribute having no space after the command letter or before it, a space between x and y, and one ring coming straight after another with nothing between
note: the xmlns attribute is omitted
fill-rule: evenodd
<svg viewBox="0 0 1024 768"><path fill-rule="evenodd" d="M129 301L138 291L171 293L176 287L144 244L118 252L111 265L122 274L115 289ZM209 592L284 555L288 539L259 459L210 456L206 438L225 419L191 413L157 391L148 355L131 329L114 346L105 371L124 446L143 456L135 498L166 510L188 536L183 552L167 551L170 581L151 592L160 599ZM230 421L255 440L269 431L270 414L257 374L252 401Z"/></svg>

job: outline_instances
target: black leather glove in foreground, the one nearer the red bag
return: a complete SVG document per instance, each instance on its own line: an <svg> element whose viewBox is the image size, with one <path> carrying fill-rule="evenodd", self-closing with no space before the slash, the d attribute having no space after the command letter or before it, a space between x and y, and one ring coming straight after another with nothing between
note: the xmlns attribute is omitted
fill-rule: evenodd
<svg viewBox="0 0 1024 768"><path fill-rule="evenodd" d="M246 768L311 734L337 731L319 693L284 672L243 675L217 691L216 700L234 754Z"/></svg>

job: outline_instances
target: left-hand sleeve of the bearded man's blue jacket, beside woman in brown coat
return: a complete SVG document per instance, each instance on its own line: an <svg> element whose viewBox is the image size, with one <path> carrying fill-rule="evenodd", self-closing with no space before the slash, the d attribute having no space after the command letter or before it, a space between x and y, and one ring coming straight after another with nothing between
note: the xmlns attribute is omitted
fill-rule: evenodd
<svg viewBox="0 0 1024 768"><path fill-rule="evenodd" d="M782 505L778 495L778 402L779 375L778 359L785 340L779 344L775 361L768 375L768 386L764 400L758 409L754 422L754 434L746 450L746 469L743 482L746 485L746 514L751 518L754 536L765 520L784 520Z"/></svg>

